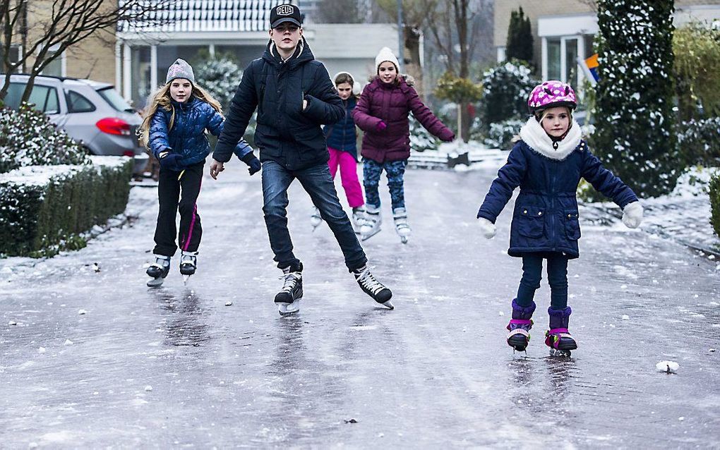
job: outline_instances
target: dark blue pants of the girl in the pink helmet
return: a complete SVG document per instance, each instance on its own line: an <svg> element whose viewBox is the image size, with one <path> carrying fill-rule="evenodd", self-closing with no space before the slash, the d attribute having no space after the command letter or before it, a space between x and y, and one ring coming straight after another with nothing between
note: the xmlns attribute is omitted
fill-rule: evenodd
<svg viewBox="0 0 720 450"><path fill-rule="evenodd" d="M542 260L547 259L547 281L550 284L550 307L567 307L567 256L562 253L527 253L523 256L523 277L518 287L518 305L528 307L542 279Z"/></svg>

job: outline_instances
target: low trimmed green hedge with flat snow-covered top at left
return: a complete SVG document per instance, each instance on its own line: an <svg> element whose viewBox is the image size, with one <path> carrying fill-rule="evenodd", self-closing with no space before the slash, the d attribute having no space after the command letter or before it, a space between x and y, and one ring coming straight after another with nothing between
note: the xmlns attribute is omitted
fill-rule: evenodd
<svg viewBox="0 0 720 450"><path fill-rule="evenodd" d="M81 248L81 233L125 211L132 159L92 160L0 175L0 253L40 257Z"/></svg>

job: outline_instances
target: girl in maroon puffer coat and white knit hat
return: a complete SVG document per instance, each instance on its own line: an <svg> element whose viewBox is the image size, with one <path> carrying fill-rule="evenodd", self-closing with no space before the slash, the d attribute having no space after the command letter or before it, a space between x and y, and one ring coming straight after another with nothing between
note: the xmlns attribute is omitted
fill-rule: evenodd
<svg viewBox="0 0 720 450"><path fill-rule="evenodd" d="M384 170L392 199L392 218L402 243L410 238L405 210L403 176L410 158L410 122L408 114L439 139L454 140L454 133L420 101L418 93L398 74L397 58L384 47L375 58L376 75L365 86L353 111L355 123L365 132L362 140L363 178L366 216L360 228L362 240L380 230L380 196L378 184Z"/></svg>

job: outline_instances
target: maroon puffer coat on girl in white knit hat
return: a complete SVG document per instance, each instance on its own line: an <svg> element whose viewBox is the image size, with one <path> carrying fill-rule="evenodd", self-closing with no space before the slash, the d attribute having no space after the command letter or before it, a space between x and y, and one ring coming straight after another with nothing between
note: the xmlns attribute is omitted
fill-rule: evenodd
<svg viewBox="0 0 720 450"><path fill-rule="evenodd" d="M420 101L413 86L400 76L397 84L387 84L375 78L365 86L357 106L353 110L355 123L364 131L362 156L378 163L410 158L410 123L413 116L429 132L447 142L453 140L453 132L435 117ZM379 122L387 128L377 129Z"/></svg>

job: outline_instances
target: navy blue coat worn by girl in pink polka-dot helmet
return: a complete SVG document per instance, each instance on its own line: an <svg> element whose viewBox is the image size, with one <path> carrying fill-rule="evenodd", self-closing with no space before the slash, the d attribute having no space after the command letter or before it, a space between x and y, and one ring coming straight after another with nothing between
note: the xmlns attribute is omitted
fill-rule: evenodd
<svg viewBox="0 0 720 450"><path fill-rule="evenodd" d="M632 189L603 168L584 140L563 159L549 158L521 140L510 150L508 162L492 181L477 217L495 223L520 186L510 225L508 255L554 252L577 258L580 222L575 192L581 178L621 208L637 201Z"/></svg>

